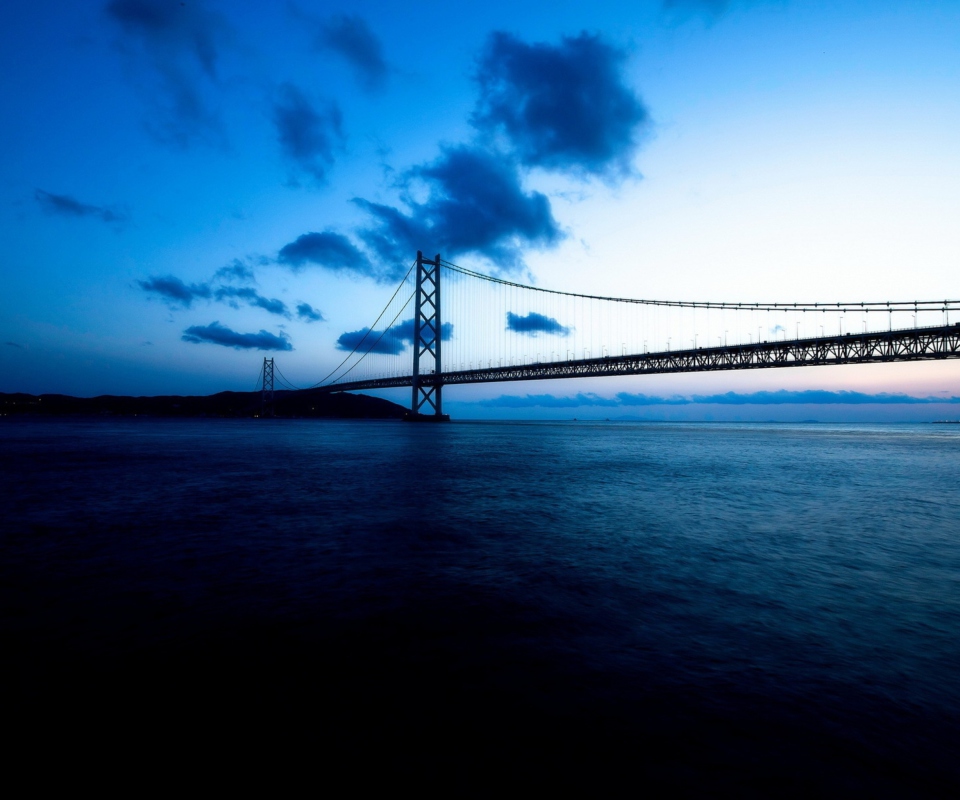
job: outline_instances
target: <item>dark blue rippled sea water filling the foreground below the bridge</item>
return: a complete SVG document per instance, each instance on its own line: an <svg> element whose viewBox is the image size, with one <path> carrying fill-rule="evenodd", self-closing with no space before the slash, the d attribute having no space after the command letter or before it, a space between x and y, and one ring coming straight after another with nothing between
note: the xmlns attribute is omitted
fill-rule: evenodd
<svg viewBox="0 0 960 800"><path fill-rule="evenodd" d="M6 725L44 751L960 788L956 428L4 420L0 456Z"/></svg>

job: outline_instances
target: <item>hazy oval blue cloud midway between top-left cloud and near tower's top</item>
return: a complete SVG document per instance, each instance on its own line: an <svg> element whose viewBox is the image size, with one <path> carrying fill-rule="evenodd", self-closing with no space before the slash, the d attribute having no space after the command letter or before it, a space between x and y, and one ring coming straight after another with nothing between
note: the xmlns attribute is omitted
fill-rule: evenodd
<svg viewBox="0 0 960 800"><path fill-rule="evenodd" d="M284 155L317 183L324 183L344 139L336 103L315 106L296 86L286 83L277 90L273 122Z"/></svg>

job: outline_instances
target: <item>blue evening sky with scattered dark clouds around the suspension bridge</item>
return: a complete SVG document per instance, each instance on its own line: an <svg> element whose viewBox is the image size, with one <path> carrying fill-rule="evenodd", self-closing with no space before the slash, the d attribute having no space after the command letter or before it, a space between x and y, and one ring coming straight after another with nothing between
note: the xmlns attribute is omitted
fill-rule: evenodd
<svg viewBox="0 0 960 800"><path fill-rule="evenodd" d="M38 2L0 37L3 391L249 390L264 354L313 383L417 246L627 297L960 294L956 2ZM960 366L446 401L781 390L947 398Z"/></svg>

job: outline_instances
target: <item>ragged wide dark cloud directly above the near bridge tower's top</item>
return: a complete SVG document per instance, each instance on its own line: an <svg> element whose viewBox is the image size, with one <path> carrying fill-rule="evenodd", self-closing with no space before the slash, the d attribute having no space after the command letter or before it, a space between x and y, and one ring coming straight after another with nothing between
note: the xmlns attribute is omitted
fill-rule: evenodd
<svg viewBox="0 0 960 800"><path fill-rule="evenodd" d="M517 269L524 247L554 245L563 236L550 201L523 191L510 160L481 149L445 148L433 163L408 170L402 183L408 190L420 183L427 191L424 202L405 193L410 213L354 200L376 221L360 237L401 275L417 250L448 258L472 253L501 269Z"/></svg>

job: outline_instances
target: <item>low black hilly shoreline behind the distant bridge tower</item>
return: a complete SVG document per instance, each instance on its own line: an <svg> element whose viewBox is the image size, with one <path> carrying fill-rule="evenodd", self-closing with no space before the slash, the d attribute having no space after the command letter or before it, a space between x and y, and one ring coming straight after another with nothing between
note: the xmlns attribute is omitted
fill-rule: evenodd
<svg viewBox="0 0 960 800"><path fill-rule="evenodd" d="M401 419L405 409L389 400L363 394L306 389L277 392L273 413L277 417L328 417L338 419ZM260 392L220 392L207 396L161 397L70 397L63 394L4 394L0 392L0 415L44 416L148 416L148 417L259 417Z"/></svg>

